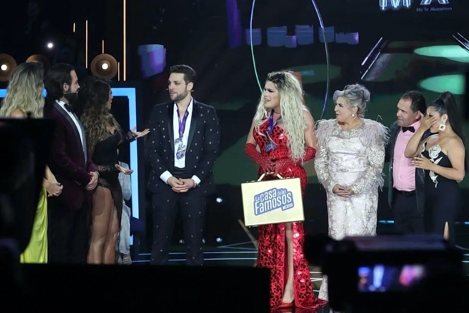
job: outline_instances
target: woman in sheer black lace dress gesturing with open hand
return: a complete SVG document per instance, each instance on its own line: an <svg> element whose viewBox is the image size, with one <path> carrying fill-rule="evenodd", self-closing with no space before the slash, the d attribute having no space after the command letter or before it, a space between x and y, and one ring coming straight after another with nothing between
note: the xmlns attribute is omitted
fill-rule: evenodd
<svg viewBox="0 0 469 313"><path fill-rule="evenodd" d="M131 174L131 171L119 166L117 149L123 143L147 135L149 130L122 132L109 112L113 100L111 87L103 81L92 77L80 91L80 99L83 104L81 121L88 149L99 172L98 187L92 200L88 263L114 264L122 214L119 172Z"/></svg>

